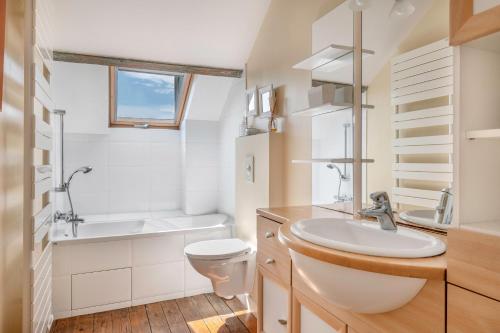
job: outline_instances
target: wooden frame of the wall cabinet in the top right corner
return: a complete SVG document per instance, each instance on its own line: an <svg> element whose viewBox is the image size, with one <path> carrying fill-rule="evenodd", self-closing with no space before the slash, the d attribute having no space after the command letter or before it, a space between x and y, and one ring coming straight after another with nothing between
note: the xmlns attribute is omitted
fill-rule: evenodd
<svg viewBox="0 0 500 333"><path fill-rule="evenodd" d="M450 45L500 31L500 5L474 15L474 0L450 0Z"/></svg>

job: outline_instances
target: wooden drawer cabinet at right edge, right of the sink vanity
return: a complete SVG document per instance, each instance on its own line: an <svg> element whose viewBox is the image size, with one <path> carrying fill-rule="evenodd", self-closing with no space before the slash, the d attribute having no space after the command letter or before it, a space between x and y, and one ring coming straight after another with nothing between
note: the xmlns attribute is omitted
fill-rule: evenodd
<svg viewBox="0 0 500 333"><path fill-rule="evenodd" d="M448 333L500 332L498 239L465 226L448 233Z"/></svg>

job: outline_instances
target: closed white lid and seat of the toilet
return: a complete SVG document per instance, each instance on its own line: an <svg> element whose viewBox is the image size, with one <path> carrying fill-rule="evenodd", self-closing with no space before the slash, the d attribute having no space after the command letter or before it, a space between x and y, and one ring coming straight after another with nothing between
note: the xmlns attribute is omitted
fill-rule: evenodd
<svg viewBox="0 0 500 333"><path fill-rule="evenodd" d="M247 253L250 246L237 238L216 239L189 244L186 256L194 259L227 259Z"/></svg>

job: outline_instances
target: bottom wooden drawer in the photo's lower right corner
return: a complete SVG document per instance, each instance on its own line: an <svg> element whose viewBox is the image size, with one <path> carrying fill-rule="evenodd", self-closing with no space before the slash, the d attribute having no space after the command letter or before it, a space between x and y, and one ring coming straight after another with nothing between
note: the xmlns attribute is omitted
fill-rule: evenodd
<svg viewBox="0 0 500 333"><path fill-rule="evenodd" d="M500 302L448 284L448 333L498 332Z"/></svg>

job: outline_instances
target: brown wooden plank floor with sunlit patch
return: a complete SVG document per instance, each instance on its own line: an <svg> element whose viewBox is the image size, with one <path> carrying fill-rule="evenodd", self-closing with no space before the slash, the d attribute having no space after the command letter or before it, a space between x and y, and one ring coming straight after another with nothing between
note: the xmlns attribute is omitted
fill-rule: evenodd
<svg viewBox="0 0 500 333"><path fill-rule="evenodd" d="M256 333L257 320L237 298L205 294L60 319L51 332Z"/></svg>

